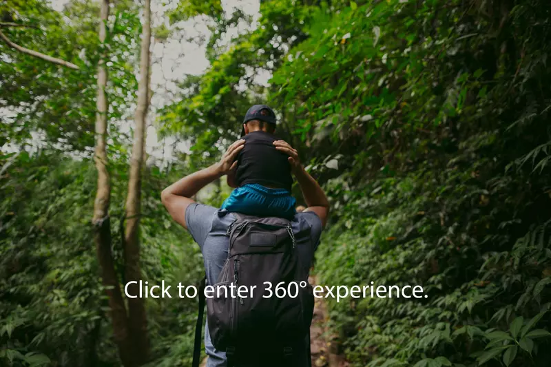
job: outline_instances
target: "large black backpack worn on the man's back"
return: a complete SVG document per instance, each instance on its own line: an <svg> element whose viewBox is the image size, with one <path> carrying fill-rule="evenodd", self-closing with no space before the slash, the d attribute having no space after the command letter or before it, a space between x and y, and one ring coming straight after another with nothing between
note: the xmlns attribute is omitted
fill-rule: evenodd
<svg viewBox="0 0 551 367"><path fill-rule="evenodd" d="M291 223L233 214L237 219L227 230L228 258L218 281L207 291L211 342L226 352L229 367L304 367L298 356L308 357L310 364L314 297ZM194 367L199 366L204 286L205 280L199 291Z"/></svg>

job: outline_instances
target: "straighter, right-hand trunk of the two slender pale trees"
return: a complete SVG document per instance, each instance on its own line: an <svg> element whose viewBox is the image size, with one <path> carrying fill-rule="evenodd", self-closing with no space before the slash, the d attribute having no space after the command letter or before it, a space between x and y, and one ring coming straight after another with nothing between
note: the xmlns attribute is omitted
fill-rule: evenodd
<svg viewBox="0 0 551 367"><path fill-rule="evenodd" d="M139 223L141 216L141 174L144 159L145 122L149 107L149 46L151 44L151 4L145 0L143 8L143 28L140 55L140 83L138 102L134 116L134 146L130 162L128 193L126 198L125 228L125 281L141 280ZM138 293L138 285L129 286L129 292ZM149 338L147 317L142 298L128 300L129 331L136 350L136 363L145 364L149 359Z"/></svg>

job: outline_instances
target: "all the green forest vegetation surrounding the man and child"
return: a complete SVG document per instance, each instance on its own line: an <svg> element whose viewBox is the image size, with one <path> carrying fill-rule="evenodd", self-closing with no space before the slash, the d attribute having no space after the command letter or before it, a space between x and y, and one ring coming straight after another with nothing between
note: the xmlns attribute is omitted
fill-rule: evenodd
<svg viewBox="0 0 551 367"><path fill-rule="evenodd" d="M216 1L190 4L221 17ZM73 12L87 14L78 6ZM330 300L331 329L353 366L548 366L548 1L281 0L262 1L260 12L258 27L227 48L218 41L242 14L217 18L207 45L211 67L187 78L176 102L159 111L160 133L191 143L180 176L218 159L238 138L247 108L268 103L280 117L278 134L298 149L331 200L315 264L322 284L419 284L428 296ZM125 40L138 34L134 10L117 17L116 57L134 50ZM23 30L10 36L32 45ZM49 52L67 54L56 42ZM54 145L61 132L73 149L88 147L92 129L65 111L85 105L78 116L90 124L95 112L86 96L93 88L72 95L76 74L59 83L55 67L0 51L17 65L3 64L6 80L31 88L30 70L43 72L35 82L45 86L46 101L37 112L35 94L1 84L13 97L2 102L23 111L19 125L2 125L1 142L42 128ZM134 88L126 75L132 67L123 66L110 70L113 101ZM258 85L255 72L270 72L270 85ZM123 86L124 93L115 92ZM117 103L113 119L122 116L123 101ZM52 119L69 133L52 128ZM125 156L113 130L110 154ZM94 169L90 160L60 156L49 149L1 157L2 167L11 166L0 175L0 343L7 346L0 361L118 366L90 233ZM117 159L111 216L120 260L127 169ZM168 171L145 171L144 277L192 284L200 279L200 255L158 198L178 178ZM212 192L214 205L227 195L220 185ZM147 303L151 366L189 366L195 307Z"/></svg>

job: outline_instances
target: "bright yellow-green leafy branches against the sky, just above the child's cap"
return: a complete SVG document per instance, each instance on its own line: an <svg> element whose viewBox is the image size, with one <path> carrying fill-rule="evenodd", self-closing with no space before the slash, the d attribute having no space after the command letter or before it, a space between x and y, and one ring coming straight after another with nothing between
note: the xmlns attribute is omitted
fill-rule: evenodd
<svg viewBox="0 0 551 367"><path fill-rule="evenodd" d="M284 44L304 39L300 24L308 17L308 8L297 9L293 4L291 0L263 3L258 28L233 39L227 52L219 54L220 47L211 42L207 52L219 56L210 69L200 80L183 85L180 101L163 110L161 132L191 141L191 167L216 159L223 147L239 137L251 101L261 103L264 98L264 88L253 76L282 62Z"/></svg>

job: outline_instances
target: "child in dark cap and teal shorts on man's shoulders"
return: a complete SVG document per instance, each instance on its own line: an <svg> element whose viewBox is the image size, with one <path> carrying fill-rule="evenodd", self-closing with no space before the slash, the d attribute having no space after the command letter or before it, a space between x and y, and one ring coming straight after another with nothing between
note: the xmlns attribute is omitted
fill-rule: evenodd
<svg viewBox="0 0 551 367"><path fill-rule="evenodd" d="M258 217L293 219L296 200L288 156L275 149L275 114L267 105L253 105L243 120L245 140L237 167L227 176L236 188L221 209Z"/></svg>

